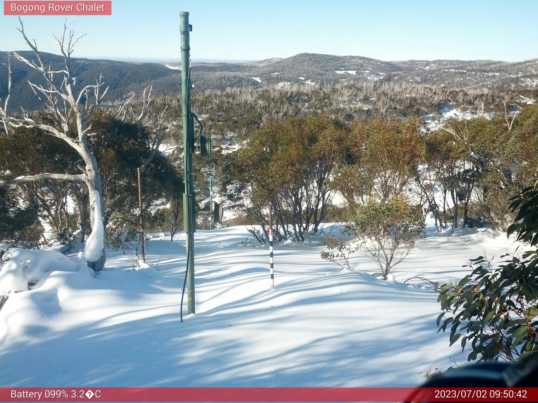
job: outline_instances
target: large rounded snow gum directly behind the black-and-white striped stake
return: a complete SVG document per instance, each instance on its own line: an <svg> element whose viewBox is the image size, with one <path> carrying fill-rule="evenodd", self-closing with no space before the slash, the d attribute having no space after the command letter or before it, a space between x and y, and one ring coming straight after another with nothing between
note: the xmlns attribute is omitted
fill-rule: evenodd
<svg viewBox="0 0 538 403"><path fill-rule="evenodd" d="M269 121L226 168L228 197L264 231L272 205L277 238L304 240L327 214L331 174L347 154L348 135L349 126L324 115Z"/></svg>

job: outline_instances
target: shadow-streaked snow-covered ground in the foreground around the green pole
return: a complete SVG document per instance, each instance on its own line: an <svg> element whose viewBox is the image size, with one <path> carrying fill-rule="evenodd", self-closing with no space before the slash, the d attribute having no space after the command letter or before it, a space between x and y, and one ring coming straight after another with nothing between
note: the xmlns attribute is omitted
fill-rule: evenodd
<svg viewBox="0 0 538 403"><path fill-rule="evenodd" d="M466 354L436 333L437 293L404 280L457 280L469 258L515 248L491 230L429 226L383 281L359 255L339 272L314 235L275 246L271 292L267 247L245 238L244 227L196 232L197 313L183 323L183 234L150 242L157 270L130 270L132 256L112 250L97 276L76 251L56 263L76 271L41 267L47 275L0 311L0 386L414 386Z"/></svg>

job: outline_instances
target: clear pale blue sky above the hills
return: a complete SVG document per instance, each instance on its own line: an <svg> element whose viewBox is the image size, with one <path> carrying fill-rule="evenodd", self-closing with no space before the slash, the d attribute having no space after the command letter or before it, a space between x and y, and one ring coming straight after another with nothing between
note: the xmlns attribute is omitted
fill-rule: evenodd
<svg viewBox="0 0 538 403"><path fill-rule="evenodd" d="M98 3L98 0L97 0ZM312 52L381 60L538 57L535 0L112 0L81 16L74 56L179 59L179 12L190 12L193 60L260 60ZM71 17L67 17L71 18ZM65 17L23 17L42 51ZM17 17L0 15L0 51L25 49Z"/></svg>

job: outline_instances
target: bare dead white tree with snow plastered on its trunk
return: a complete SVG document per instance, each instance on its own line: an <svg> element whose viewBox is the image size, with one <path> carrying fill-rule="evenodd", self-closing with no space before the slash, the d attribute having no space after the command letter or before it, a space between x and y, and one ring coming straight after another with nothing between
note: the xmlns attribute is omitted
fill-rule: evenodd
<svg viewBox="0 0 538 403"><path fill-rule="evenodd" d="M74 21L74 20L73 20ZM8 97L4 105L0 103L0 118L4 124L6 132L10 128L29 127L37 128L47 135L54 136L65 141L72 147L84 161L84 166L80 166L81 174L51 174L43 173L32 176L22 176L13 181L0 182L0 186L12 185L22 182L36 182L42 180L58 180L67 182L83 183L88 189L88 199L90 207L90 224L91 235L86 243L86 258L89 267L95 271L100 271L104 267L106 260L105 243L104 243L104 226L102 221L103 208L103 193L101 176L97 166L97 161L93 153L88 147L88 137L91 133L90 120L97 108L112 108L123 105L129 100L119 105L103 104L103 98L107 93L107 89L102 91L104 86L102 75L96 80L95 84L86 85L78 93L75 93L76 76L71 63L71 54L77 41L82 38L74 38L73 30L69 30L69 26L73 23L63 24L63 32L60 38L54 35L54 42L60 47L63 56L63 66L59 69L53 69L50 65L47 67L37 48L36 41L30 41L24 32L24 25L19 18L19 32L23 35L26 44L32 49L36 60L30 60L26 57L13 53L18 61L26 63L32 69L38 71L43 78L44 84L32 83L29 81L30 87L41 99L44 97L46 112L48 118L53 123L46 124L40 118L31 118L27 112L23 110L22 116L15 116L8 111ZM11 71L9 68L8 71ZM11 76L11 75L10 75ZM60 76L60 78L58 78ZM9 80L9 89L11 90L11 80ZM131 96L132 97L132 96ZM74 130L73 130L74 129ZM74 132L74 133L73 133Z"/></svg>

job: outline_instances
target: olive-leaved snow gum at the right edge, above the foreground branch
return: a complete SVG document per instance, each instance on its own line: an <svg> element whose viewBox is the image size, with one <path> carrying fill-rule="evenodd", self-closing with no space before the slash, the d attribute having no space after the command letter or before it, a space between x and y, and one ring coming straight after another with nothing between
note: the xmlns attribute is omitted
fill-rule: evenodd
<svg viewBox="0 0 538 403"><path fill-rule="evenodd" d="M441 172L452 204L453 225L473 209L492 226L506 228L513 220L510 200L532 184L538 164L538 104L517 115L491 119L451 119L431 136L450 148ZM458 206L463 206L463 214Z"/></svg>

